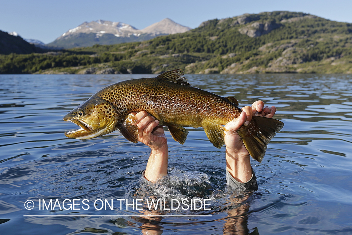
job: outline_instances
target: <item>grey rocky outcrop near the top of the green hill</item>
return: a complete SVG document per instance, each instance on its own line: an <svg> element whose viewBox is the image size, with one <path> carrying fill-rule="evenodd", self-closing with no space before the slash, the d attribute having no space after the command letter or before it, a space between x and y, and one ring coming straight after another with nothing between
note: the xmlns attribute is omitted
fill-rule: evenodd
<svg viewBox="0 0 352 235"><path fill-rule="evenodd" d="M270 33L272 30L277 29L280 26L281 24L277 24L275 21L265 23L254 22L253 24L240 28L238 31L253 38Z"/></svg>

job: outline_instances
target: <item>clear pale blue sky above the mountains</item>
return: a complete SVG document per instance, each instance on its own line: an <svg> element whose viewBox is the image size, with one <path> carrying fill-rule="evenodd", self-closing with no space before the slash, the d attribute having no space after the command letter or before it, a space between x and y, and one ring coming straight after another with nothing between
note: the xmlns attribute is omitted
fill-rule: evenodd
<svg viewBox="0 0 352 235"><path fill-rule="evenodd" d="M164 18L195 28L209 19L263 11L296 11L352 23L352 0L1 0L0 30L54 41L84 21L110 20L143 29Z"/></svg>

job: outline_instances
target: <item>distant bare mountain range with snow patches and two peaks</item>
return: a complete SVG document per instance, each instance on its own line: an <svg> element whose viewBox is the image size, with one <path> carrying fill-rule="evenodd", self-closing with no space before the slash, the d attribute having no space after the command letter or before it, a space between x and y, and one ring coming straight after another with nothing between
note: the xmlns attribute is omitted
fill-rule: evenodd
<svg viewBox="0 0 352 235"><path fill-rule="evenodd" d="M74 29L63 33L48 46L74 48L90 47L94 44L111 45L124 42L140 42L160 35L183 33L190 30L166 18L162 21L138 30L135 27L107 20L84 22Z"/></svg>

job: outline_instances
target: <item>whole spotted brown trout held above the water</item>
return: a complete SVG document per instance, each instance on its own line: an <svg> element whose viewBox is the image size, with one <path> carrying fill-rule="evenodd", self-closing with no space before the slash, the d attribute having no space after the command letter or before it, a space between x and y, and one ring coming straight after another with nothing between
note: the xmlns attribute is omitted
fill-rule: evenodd
<svg viewBox="0 0 352 235"><path fill-rule="evenodd" d="M146 111L166 126L172 138L186 142L184 127L202 127L216 147L224 145L223 125L237 118L242 110L234 97L221 97L191 86L181 69L162 73L155 78L121 81L101 89L64 116L64 121L80 129L65 132L69 138L87 140L119 130L128 141L138 142L136 117L131 112ZM283 122L253 116L238 134L253 159L261 162L269 141L283 128Z"/></svg>

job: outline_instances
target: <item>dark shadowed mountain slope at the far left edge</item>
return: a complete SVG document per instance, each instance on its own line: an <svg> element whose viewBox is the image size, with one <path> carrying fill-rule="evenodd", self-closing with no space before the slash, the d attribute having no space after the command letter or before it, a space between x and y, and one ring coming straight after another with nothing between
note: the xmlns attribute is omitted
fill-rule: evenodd
<svg viewBox="0 0 352 235"><path fill-rule="evenodd" d="M33 52L39 52L39 50L34 45L26 42L16 32L0 31L0 54L30 54Z"/></svg>

